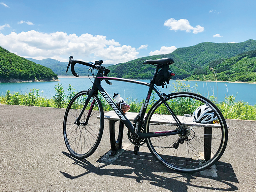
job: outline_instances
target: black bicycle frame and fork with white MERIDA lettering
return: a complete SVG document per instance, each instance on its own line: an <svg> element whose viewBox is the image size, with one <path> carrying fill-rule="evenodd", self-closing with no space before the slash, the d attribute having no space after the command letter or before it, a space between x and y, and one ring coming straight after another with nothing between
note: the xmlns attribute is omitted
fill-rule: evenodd
<svg viewBox="0 0 256 192"><path fill-rule="evenodd" d="M85 111L86 106L89 103L89 100L90 100L91 96L93 94L97 95L98 91L99 91L101 93L101 95L105 98L105 100L108 102L108 104L111 106L111 108L113 108L113 110L118 115L120 120L124 123L124 125L129 129L129 131L131 133L133 133L133 136L135 138L150 138L150 137L159 137L159 136L175 135L175 134L182 133L181 130L183 130L183 128L181 126L181 122L177 118L177 116L173 113L173 111L171 110L169 105L165 102L165 97L166 97L165 94L160 94L159 91L154 87L154 78L156 76L156 73L157 73L157 69L155 70L155 73L154 73L153 79L151 79L151 82L150 83L145 83L145 82L139 82L139 81L135 81L135 80L131 80L131 79L124 79L124 78L117 78L117 77L107 77L107 76L104 77L100 72L98 72L95 79L94 79L92 89L89 92L89 95L88 95L89 99L86 100L85 105L84 105L84 107L81 111L81 114L76 119L75 124L82 124L82 123L79 123L79 121L82 117L82 114ZM142 104L141 109L139 111L139 114L135 118L135 121L136 121L136 126L135 127L127 119L127 117L125 116L123 111L117 106L117 104L113 101L113 99L108 95L108 93L101 86L101 81L102 80L122 81L122 82L135 83L135 84L144 85L144 86L149 87L149 91L148 91L145 103ZM147 110L147 107L148 107L148 103L150 101L150 96L151 96L153 90L160 97L160 99L164 102L165 106L168 108L169 112L174 117L174 120L175 120L176 124L179 126L180 130L176 129L176 130L163 131L163 132L152 132L152 133L141 133L140 132L140 128L141 128L141 125L143 123L143 120L144 120L144 117L145 117L145 114L146 114L146 110ZM90 107L89 113L88 113L88 117L90 117L91 109L93 108L93 105L94 105L94 102L92 102L92 104L91 104L91 107ZM87 124L87 122L88 122L88 118L87 118L85 124Z"/></svg>

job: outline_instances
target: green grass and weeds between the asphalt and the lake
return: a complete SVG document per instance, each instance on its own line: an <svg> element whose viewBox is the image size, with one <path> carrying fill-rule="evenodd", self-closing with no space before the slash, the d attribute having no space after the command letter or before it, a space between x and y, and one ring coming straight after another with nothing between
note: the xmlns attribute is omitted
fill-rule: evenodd
<svg viewBox="0 0 256 192"><path fill-rule="evenodd" d="M190 85L184 82L176 82L173 84L173 92L194 92L198 93L196 87L190 87ZM77 93L71 85L67 89L68 95L65 95L62 85L57 85L55 87L56 95L47 99L43 97L43 92L39 92L39 89L32 89L27 94L20 94L19 92L10 93L8 90L5 95L0 95L1 104L10 105L29 105L29 106L43 106L43 107L56 107L56 108L66 108L70 99ZM101 100L103 110L109 111L112 108L105 101L101 94L98 95ZM252 106L244 101L235 101L233 95L224 98L224 101L217 102L217 98L214 96L209 96L208 98L213 101L218 108L221 110L224 118L226 119L242 119L242 120L256 120L256 106ZM152 93L151 101L149 102L148 109L156 102L155 93ZM129 99L127 103L130 105L130 112L138 112L142 103L145 101L138 101L137 99Z"/></svg>

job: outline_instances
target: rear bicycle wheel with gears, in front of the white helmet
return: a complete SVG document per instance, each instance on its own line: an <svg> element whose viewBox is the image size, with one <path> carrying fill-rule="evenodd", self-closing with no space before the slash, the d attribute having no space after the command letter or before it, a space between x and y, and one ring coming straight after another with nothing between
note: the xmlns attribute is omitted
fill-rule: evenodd
<svg viewBox="0 0 256 192"><path fill-rule="evenodd" d="M227 125L220 110L209 99L194 93L172 93L167 97L165 102L158 100L149 110L145 131L165 133L182 127L185 134L148 138L150 152L160 163L179 172L197 172L212 166L224 153L228 139ZM215 124L193 121L193 112L202 105L211 108L217 117Z"/></svg>

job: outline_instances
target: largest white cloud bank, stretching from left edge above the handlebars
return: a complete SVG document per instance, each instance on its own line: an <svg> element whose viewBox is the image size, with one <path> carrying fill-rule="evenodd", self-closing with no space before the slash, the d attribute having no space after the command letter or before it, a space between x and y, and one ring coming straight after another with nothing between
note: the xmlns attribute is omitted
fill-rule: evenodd
<svg viewBox="0 0 256 192"><path fill-rule="evenodd" d="M67 61L69 56L84 61L103 60L104 64L116 64L137 58L135 47L120 45L114 39L91 34L67 34L64 32L41 33L28 31L9 35L0 33L0 46L22 57L34 59L52 58Z"/></svg>

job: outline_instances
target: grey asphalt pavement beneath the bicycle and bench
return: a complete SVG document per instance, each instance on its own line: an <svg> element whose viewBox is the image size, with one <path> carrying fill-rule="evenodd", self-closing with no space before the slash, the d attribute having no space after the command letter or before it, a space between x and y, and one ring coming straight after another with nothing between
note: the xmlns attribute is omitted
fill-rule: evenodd
<svg viewBox="0 0 256 192"><path fill-rule="evenodd" d="M129 146L113 163L108 122L99 148L86 160L67 152L65 109L0 105L0 191L256 191L255 121L227 120L229 141L217 163L218 177L184 174L155 161L145 147ZM129 143L126 130L124 143ZM100 159L101 158L101 159Z"/></svg>

